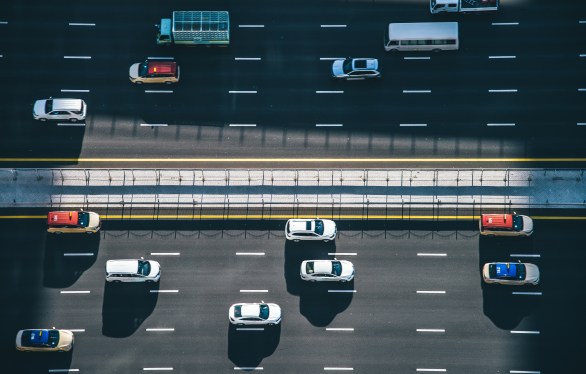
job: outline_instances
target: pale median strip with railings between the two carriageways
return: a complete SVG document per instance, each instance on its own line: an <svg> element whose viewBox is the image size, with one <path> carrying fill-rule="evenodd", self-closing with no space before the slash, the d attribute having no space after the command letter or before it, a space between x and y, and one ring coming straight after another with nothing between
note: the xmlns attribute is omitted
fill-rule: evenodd
<svg viewBox="0 0 586 374"><path fill-rule="evenodd" d="M0 169L0 189L3 208L192 219L586 207L583 169Z"/></svg>

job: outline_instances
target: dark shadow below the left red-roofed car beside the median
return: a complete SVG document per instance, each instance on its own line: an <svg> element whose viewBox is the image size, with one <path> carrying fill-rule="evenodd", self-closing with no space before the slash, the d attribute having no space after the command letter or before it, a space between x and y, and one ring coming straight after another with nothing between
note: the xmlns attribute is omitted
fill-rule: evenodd
<svg viewBox="0 0 586 374"><path fill-rule="evenodd" d="M99 248L99 234L47 234L43 286L66 288L73 285L96 262Z"/></svg>

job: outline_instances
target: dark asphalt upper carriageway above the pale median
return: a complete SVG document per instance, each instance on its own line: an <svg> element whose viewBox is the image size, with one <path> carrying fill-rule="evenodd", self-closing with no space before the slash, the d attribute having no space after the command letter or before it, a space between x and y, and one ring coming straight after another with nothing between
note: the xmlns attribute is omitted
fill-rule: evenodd
<svg viewBox="0 0 586 374"><path fill-rule="evenodd" d="M153 25L189 2L140 14L128 1L11 2L2 166L585 164L585 3L503 1L478 16L431 15L423 0L198 5L231 12L229 47L155 44ZM459 22L459 51L384 51L389 22L438 20ZM331 59L346 56L380 59L383 79L332 81ZM181 81L132 85L129 66L147 57L174 57ZM83 126L34 121L49 96L83 98Z"/></svg>

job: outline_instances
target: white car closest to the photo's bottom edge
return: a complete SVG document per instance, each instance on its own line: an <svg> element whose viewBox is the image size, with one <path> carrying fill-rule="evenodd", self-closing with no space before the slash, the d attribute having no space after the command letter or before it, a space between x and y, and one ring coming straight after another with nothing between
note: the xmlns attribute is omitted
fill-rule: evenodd
<svg viewBox="0 0 586 374"><path fill-rule="evenodd" d="M233 325L278 325L281 323L281 307L277 304L237 303L230 306L228 319Z"/></svg>

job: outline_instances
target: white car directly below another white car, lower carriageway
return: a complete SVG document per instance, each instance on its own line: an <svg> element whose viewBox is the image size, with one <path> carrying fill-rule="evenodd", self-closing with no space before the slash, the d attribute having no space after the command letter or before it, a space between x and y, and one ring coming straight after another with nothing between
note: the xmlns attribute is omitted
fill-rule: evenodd
<svg viewBox="0 0 586 374"><path fill-rule="evenodd" d="M310 282L350 282L354 279L354 265L346 260L306 260L299 274Z"/></svg>

